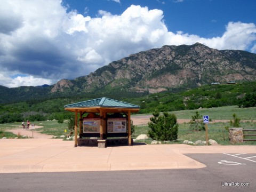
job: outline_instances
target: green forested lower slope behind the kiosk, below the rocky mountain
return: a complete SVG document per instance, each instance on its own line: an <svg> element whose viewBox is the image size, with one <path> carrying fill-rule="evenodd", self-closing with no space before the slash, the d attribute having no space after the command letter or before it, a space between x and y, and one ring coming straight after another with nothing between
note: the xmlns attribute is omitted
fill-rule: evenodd
<svg viewBox="0 0 256 192"><path fill-rule="evenodd" d="M98 98L100 95L88 97L77 95L49 100L28 100L12 104L0 105L0 123L45 121L47 119L63 119L74 117L73 113L64 110L64 106L74 102ZM102 95L101 95L102 97ZM211 108L221 106L256 106L256 82L237 84L205 85L191 90L172 90L140 97L125 95L104 95L111 99L130 102L141 107L140 113L158 111L174 111L183 109Z"/></svg>

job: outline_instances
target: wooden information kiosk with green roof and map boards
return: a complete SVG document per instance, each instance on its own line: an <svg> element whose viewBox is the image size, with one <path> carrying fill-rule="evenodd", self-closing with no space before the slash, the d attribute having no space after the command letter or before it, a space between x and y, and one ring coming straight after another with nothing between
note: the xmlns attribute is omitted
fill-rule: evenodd
<svg viewBox="0 0 256 192"><path fill-rule="evenodd" d="M132 145L131 113L138 112L140 106L109 98L99 98L64 107L65 110L75 112L75 147L92 143L93 140L98 142L98 147L106 147L107 138L111 137L126 138L128 145ZM78 114L80 118L77 139ZM83 117L85 114L87 116Z"/></svg>

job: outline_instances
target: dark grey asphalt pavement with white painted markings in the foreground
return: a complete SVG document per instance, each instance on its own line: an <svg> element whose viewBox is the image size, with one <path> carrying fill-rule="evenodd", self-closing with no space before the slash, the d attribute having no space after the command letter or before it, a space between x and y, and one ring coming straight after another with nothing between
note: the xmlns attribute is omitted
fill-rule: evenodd
<svg viewBox="0 0 256 192"><path fill-rule="evenodd" d="M198 169L1 173L0 191L255 191L256 166L247 159L256 154L227 154L185 154L206 165ZM223 161L228 164L219 163Z"/></svg>

